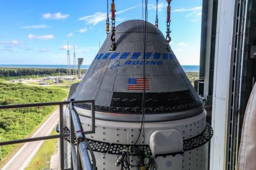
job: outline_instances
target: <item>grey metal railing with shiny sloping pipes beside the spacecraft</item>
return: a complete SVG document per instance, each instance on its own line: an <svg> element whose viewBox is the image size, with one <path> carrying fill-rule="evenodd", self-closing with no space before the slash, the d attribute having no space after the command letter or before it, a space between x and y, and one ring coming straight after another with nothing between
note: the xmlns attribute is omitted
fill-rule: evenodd
<svg viewBox="0 0 256 170"><path fill-rule="evenodd" d="M90 132L83 132L82 124L79 120L79 116L75 111L74 104L81 104L81 103L89 103L91 104L91 111L92 111L92 131ZM69 111L72 116L70 127L71 129L75 130L65 134L63 131L63 107L66 105L70 106ZM94 100L83 100L83 101L63 101L63 102L49 102L49 103L33 103L33 104L17 104L17 105L6 105L0 106L0 110L2 109L18 109L18 108L31 108L31 107L43 107L43 106L59 106L60 107L60 122L59 122L59 134L58 135L50 135L50 136L40 136L40 137L30 137L26 139L19 139L19 140L11 140L11 141L0 141L0 148L2 145L10 145L10 144L17 144L17 143L25 143L25 142L34 142L34 141L42 141L47 139L60 139L60 169L65 169L64 167L64 140L65 137L70 137L70 139L74 140L76 137L76 147L78 150L75 149L75 143L71 141L71 159L73 160L73 166L71 169L93 169L94 167L91 165L89 153L86 149L86 138L84 134L94 133L95 132L95 107L94 107ZM71 109L70 109L71 108ZM80 131L79 131L80 130ZM76 132L76 133L75 133ZM74 165L74 163L76 163ZM95 169L95 168L94 168Z"/></svg>

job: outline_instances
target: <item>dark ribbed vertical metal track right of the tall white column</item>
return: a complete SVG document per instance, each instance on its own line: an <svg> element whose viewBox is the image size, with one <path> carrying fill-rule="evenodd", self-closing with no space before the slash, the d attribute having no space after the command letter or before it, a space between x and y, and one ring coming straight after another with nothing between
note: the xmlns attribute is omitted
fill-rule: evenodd
<svg viewBox="0 0 256 170"><path fill-rule="evenodd" d="M226 169L237 167L239 149L239 121L241 119L241 87L243 72L243 56L245 43L247 0L236 1L234 15L233 47L230 62L229 110L227 124Z"/></svg>

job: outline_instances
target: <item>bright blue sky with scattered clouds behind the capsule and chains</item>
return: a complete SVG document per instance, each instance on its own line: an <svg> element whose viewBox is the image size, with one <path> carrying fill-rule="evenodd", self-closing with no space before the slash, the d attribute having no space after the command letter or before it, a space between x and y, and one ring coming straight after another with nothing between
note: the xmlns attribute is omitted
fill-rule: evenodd
<svg viewBox="0 0 256 170"><path fill-rule="evenodd" d="M117 25L142 19L141 0L115 2ZM0 63L66 64L69 41L71 46L76 46L76 56L84 58L84 64L90 64L99 50L99 42L102 44L106 38L106 3L102 0L2 0ZM148 21L154 24L156 1L148 3ZM171 47L181 64L197 65L202 0L173 0L171 7ZM158 21L159 29L165 33L165 0L158 0Z"/></svg>

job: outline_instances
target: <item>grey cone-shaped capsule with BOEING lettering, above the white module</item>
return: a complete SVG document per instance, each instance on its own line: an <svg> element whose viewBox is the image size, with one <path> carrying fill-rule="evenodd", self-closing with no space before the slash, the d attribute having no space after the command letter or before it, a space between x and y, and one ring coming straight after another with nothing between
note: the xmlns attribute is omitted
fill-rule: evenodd
<svg viewBox="0 0 256 170"><path fill-rule="evenodd" d="M142 20L118 25L116 50L109 51L108 36L72 98L95 100L96 111L141 113L145 87L146 113L182 112L202 106L174 53L166 50L165 37L149 22L143 53L144 26Z"/></svg>

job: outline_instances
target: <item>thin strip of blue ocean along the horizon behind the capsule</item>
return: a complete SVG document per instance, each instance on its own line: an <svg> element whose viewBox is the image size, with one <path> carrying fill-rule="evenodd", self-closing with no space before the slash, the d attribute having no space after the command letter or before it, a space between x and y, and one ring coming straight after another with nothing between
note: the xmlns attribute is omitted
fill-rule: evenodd
<svg viewBox="0 0 256 170"><path fill-rule="evenodd" d="M88 69L90 65L82 65L82 69ZM199 72L198 65L181 65L186 72ZM52 65L52 64L0 64L0 68L67 68L67 65ZM71 65L71 68L75 68Z"/></svg>

